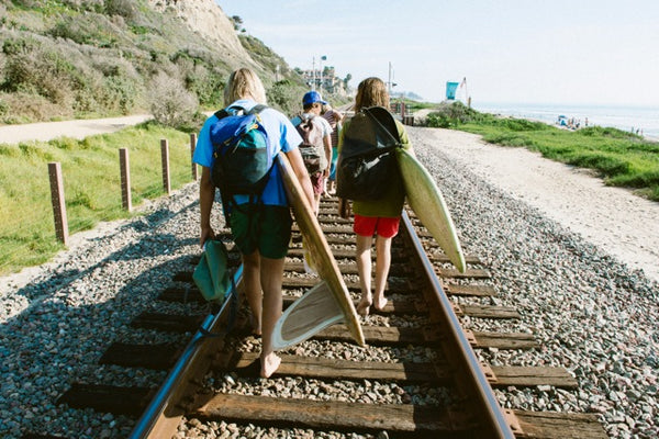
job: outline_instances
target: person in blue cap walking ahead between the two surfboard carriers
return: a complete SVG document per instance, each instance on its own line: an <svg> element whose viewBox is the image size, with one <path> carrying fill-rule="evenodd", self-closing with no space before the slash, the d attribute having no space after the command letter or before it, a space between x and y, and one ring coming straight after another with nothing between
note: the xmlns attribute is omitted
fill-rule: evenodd
<svg viewBox="0 0 659 439"><path fill-rule="evenodd" d="M317 91L309 91L302 98L302 113L291 120L303 139L300 151L311 177L314 193L312 207L316 215L332 161L332 126L321 116L326 103Z"/></svg>

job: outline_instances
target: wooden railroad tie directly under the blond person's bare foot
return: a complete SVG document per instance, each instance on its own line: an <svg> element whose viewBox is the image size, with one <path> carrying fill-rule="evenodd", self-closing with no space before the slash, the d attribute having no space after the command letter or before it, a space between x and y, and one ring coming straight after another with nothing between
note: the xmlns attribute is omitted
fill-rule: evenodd
<svg viewBox="0 0 659 439"><path fill-rule="evenodd" d="M447 384L450 376L447 365L435 367L432 363L386 363L378 361L349 361L316 357L300 357L280 354L281 365L276 375L294 375L310 379L331 380L380 380L426 382ZM222 369L236 370L243 376L258 376L259 354L255 352L238 352Z"/></svg>

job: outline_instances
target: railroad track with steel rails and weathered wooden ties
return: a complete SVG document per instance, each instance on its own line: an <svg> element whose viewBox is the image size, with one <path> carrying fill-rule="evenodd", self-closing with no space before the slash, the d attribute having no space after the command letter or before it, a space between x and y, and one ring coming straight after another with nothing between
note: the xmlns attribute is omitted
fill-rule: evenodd
<svg viewBox="0 0 659 439"><path fill-rule="evenodd" d="M320 219L358 301L350 223L337 217L335 200L323 201ZM317 282L304 273L301 256L294 230L284 306ZM232 257L238 280L238 256ZM197 260L176 274L160 301L203 302L191 280ZM189 344L115 344L101 363L169 371L165 382L159 387L72 383L58 403L133 417L133 438L172 437L177 430L179 437L220 437L223 429L230 431L224 437L605 438L595 415L501 409L493 389L570 390L577 382L560 368L479 361L481 349L535 349L538 344L527 333L461 329L462 317L521 318L512 307L491 305L496 293L487 279L492 273L476 256L467 262L466 273L453 269L414 215L405 213L393 240L389 303L362 319L367 348L335 325L280 352L281 367L263 380L257 378L259 340L249 334L238 301L209 306L204 315L143 313L134 327L189 333ZM451 297L471 300L458 304L462 301Z"/></svg>

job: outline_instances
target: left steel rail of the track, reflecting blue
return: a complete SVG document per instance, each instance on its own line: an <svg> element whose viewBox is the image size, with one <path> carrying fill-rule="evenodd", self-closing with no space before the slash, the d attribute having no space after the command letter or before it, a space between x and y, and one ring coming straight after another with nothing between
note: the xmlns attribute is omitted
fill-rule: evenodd
<svg viewBox="0 0 659 439"><path fill-rule="evenodd" d="M146 410L137 420L137 424L131 432L131 439L152 437L161 438L164 437L163 430L167 429L174 429L174 435L178 427L179 418L182 416L182 413L172 413L172 407L180 403L177 401L178 397L180 397L178 391L182 387L182 383L193 378L192 375L194 374L197 367L205 361L203 348L206 345L206 341L213 339L212 334L217 334L217 328L226 319L230 312L230 303L237 299L236 285L241 282L242 277L243 266L241 264L233 275L230 295L215 315L209 314L203 320L200 329L194 334L192 340L188 344L183 353L167 375L165 382L158 389L158 392L147 406ZM209 334L211 334L211 336L209 336ZM169 435L168 437L171 437L172 435Z"/></svg>

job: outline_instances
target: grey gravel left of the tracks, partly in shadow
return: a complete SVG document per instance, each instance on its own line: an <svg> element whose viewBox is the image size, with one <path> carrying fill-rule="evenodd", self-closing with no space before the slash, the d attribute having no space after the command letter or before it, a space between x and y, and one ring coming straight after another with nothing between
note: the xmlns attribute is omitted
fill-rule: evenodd
<svg viewBox="0 0 659 439"><path fill-rule="evenodd" d="M154 374L161 371L113 370L98 361L113 341L141 331L131 327L131 320L160 306L158 296L174 275L190 270L193 257L201 252L198 228L190 226L197 209L197 202L175 211L161 209L91 238L56 271L12 293L18 300L26 297L30 306L0 327L0 399L12 402L3 407L1 437L40 429L46 418L68 418L63 416L66 406L58 406L56 398L72 382L154 385ZM116 248L87 268L78 267L103 246ZM200 305L167 303L165 312L190 314L196 306ZM98 414L98 419L108 427L109 423L101 423L103 416ZM59 431L51 434L71 428L62 420ZM125 432L134 420L115 421L113 429Z"/></svg>

